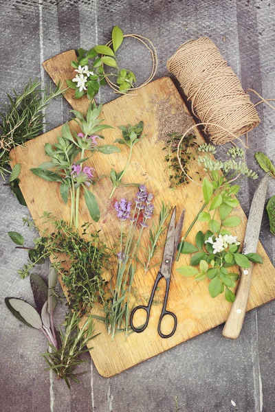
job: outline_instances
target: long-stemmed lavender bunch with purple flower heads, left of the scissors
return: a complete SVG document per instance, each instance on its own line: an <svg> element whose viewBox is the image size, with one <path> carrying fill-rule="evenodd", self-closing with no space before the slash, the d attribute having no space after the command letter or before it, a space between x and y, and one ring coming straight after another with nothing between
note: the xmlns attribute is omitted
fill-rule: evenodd
<svg viewBox="0 0 275 412"><path fill-rule="evenodd" d="M112 339L116 333L124 331L125 339L129 334L130 319L130 294L135 276L137 256L140 250L140 241L144 229L148 227L154 211L153 195L148 194L146 187L140 185L135 197L135 207L131 213L132 203L122 198L115 202L115 210L121 222L120 225L120 251L118 252L118 268L111 282L111 299L105 308L106 317L100 318L105 321L107 330ZM124 236L124 226L130 222ZM139 233L138 233L139 230ZM135 233L138 233L137 238ZM124 241L124 238L126 240Z"/></svg>

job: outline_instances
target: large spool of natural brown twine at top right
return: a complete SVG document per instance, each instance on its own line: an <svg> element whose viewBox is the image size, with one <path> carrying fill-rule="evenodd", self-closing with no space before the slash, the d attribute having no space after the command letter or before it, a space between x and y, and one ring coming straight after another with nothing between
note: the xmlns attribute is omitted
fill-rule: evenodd
<svg viewBox="0 0 275 412"><path fill-rule="evenodd" d="M181 45L167 69L179 80L192 113L205 124L214 144L225 144L259 125L250 96L210 38Z"/></svg>

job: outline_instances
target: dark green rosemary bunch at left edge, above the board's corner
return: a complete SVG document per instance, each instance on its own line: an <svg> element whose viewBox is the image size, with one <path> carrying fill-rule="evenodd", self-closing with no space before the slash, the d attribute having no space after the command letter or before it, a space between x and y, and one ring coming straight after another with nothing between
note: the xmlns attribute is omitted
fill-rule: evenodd
<svg viewBox="0 0 275 412"><path fill-rule="evenodd" d="M38 136L43 127L44 110L50 101L63 93L61 85L52 90L40 89L41 82L30 80L21 94L13 89L14 96L8 95L10 104L5 113L0 113L0 174L4 177L8 170L10 150L21 146Z"/></svg>

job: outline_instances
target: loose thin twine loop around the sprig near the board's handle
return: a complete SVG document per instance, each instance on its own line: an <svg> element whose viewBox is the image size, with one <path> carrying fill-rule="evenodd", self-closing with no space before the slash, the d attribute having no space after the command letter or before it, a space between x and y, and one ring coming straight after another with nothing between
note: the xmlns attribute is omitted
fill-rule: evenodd
<svg viewBox="0 0 275 412"><path fill-rule="evenodd" d="M151 82L151 80L153 80L153 78L155 76L155 73L157 72L157 50L155 49L155 46L153 45L153 43L151 42L151 40L149 38L141 36L140 34L124 34L123 37L124 38L131 37L131 38L135 38L136 40L139 40L141 43L144 44L144 46L151 53L151 58L152 58L153 65L152 65L152 70L151 70L150 76L148 77L147 80L145 80L144 83L140 84L140 86L131 87L131 89L129 89L129 91L137 90L137 89L140 89L141 87L145 86L149 82ZM106 45L110 47L112 44L113 44L113 41L110 40ZM111 89L113 89L113 91L115 91L115 93L126 94L126 93L122 93L120 91L120 86L118 84L113 83L108 78L108 76L106 76L106 81L109 84L109 87L111 87Z"/></svg>

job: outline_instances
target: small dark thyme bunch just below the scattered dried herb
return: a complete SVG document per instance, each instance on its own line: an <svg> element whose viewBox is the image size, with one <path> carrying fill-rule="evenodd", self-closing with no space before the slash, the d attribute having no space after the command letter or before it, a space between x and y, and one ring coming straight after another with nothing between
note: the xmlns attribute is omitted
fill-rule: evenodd
<svg viewBox="0 0 275 412"><path fill-rule="evenodd" d="M191 150L192 148L197 147L197 143L195 135L190 134L184 137L180 147L181 165L186 172L186 174L184 174L177 159L177 146L179 145L181 137L182 135L179 135L178 133L170 133L166 141L166 146L163 149L166 151L165 161L170 173L170 187L179 187L189 183L186 174L188 174L190 161L195 159Z"/></svg>

